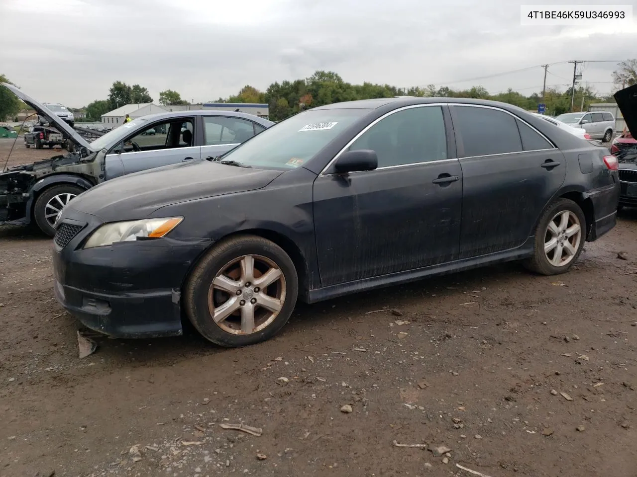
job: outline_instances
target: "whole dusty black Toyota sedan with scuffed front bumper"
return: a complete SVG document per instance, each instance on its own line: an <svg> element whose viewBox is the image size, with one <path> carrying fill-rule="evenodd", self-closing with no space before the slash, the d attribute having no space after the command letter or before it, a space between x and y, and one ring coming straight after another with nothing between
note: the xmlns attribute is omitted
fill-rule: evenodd
<svg viewBox="0 0 637 477"><path fill-rule="evenodd" d="M180 335L187 319L238 347L297 299L512 260L566 272L618 197L608 149L508 104L331 104L79 195L55 225L55 296L106 335Z"/></svg>

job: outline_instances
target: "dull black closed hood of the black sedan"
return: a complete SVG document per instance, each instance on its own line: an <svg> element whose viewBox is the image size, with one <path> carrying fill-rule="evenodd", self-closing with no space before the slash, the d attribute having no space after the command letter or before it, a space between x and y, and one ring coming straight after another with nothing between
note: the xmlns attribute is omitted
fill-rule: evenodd
<svg viewBox="0 0 637 477"><path fill-rule="evenodd" d="M107 222L140 219L166 205L261 189L281 174L280 170L248 169L201 159L106 181L82 193L68 207Z"/></svg>

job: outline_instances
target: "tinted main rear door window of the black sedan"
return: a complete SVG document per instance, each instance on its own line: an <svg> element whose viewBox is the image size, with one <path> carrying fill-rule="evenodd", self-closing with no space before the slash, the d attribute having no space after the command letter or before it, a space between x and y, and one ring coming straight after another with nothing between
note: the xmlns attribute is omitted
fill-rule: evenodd
<svg viewBox="0 0 637 477"><path fill-rule="evenodd" d="M523 150L515 118L490 107L453 106L463 157L517 153ZM457 123L457 124L456 124Z"/></svg>

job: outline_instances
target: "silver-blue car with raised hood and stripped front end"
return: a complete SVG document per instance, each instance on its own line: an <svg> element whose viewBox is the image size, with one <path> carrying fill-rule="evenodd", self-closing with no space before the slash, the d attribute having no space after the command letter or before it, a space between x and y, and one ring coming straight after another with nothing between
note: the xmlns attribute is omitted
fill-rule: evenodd
<svg viewBox="0 0 637 477"><path fill-rule="evenodd" d="M274 124L247 113L166 111L135 118L89 142L20 89L3 86L55 125L68 153L0 171L0 224L35 223L50 237L62 207L83 191L132 172L211 160ZM151 129L155 135L146 134Z"/></svg>

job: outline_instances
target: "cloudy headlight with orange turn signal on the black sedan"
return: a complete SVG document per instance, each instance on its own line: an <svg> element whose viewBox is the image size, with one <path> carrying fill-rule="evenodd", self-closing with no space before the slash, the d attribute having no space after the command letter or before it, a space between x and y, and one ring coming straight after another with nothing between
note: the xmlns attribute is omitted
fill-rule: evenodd
<svg viewBox="0 0 637 477"><path fill-rule="evenodd" d="M169 217L104 224L92 233L83 248L104 247L113 242L137 240L138 237L159 239L178 226L182 220L183 217Z"/></svg>

